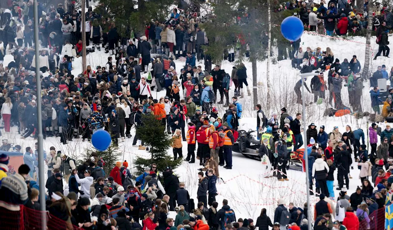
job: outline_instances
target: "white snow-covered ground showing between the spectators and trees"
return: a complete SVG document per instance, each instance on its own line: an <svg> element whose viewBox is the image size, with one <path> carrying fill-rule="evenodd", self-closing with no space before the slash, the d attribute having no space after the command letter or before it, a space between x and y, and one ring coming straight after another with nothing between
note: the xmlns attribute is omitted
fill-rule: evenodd
<svg viewBox="0 0 393 230"><path fill-rule="evenodd" d="M352 41L331 39L326 37L320 37L315 35L304 34L301 37L301 47L303 50L306 47L311 47L316 49L316 47L321 47L322 50L326 50L326 47L330 47L334 52L334 58L338 58L340 62L343 62L344 58L351 60L353 55L358 57L360 64L364 65L364 55L365 55L365 38L354 37L349 38ZM378 50L378 45L375 44L375 37L371 38L371 49L375 55ZM277 50L275 50L277 53ZM103 65L107 62L108 55L104 51L95 51L87 56L87 64L91 65L94 69L97 65ZM6 55L4 64L7 65L12 61L11 55ZM75 58L73 61L73 75L78 75L81 73L81 58ZM176 60L176 71L180 73L180 69L184 66L184 61ZM248 61L244 62L247 68L247 74L249 76L248 83L250 84L250 89L252 90L252 68L251 63ZM257 63L257 76L258 84L255 86L258 89L258 102L262 104L263 108L266 110L266 61ZM376 61L373 61L371 68L375 71L378 65L385 64L387 66L387 71L393 66L393 60L390 58L379 57ZM198 64L197 64L198 65ZM203 66L202 63L200 65ZM221 68L227 73L231 73L233 64L228 61L223 61ZM270 86L272 92L272 103L270 105L270 111L265 112L267 115L270 112L278 112L282 107L286 107L290 115L294 116L297 112L301 112L301 106L296 104L296 95L293 91L295 83L299 80L298 70L291 68L290 60L282 60L277 62L277 64L270 65ZM307 84L310 84L311 78L307 79ZM327 72L325 72L325 80L327 81ZM371 112L371 101L369 96L369 82L364 82L362 107L363 111ZM153 92L154 97L161 97L165 95L165 91ZM233 95L233 89L230 92L230 97ZM328 98L328 93L326 98ZM342 99L344 104L349 105L348 91L345 87L342 89ZM255 111L253 111L253 100L252 97L246 96L243 99L239 99L243 104L243 119L241 123L248 123L247 126L255 127ZM306 93L306 102L311 102L313 100L313 95ZM350 125L353 130L357 128L362 128L364 131L367 130L367 119L355 119L352 115L345 115L343 117L323 117L323 111L328 107L325 100L321 105L312 104L306 108L307 114L307 124L314 122L318 127L320 125L325 125L326 132L329 133L334 126L338 126L340 131L345 130L346 125ZM216 105L219 108L220 115L224 111L222 105ZM380 124L382 129L386 124ZM134 135L135 130L132 130L132 135ZM27 146L33 146L35 141L32 138L25 140L20 139L17 135L16 128L13 127L12 132L7 134L3 133L2 138L7 138L11 140L14 144L19 144L22 146L22 150ZM133 138L133 137L132 137ZM146 151L138 150L138 148L132 147L132 138L126 139L125 142L119 142L121 151L124 152L123 159L128 162L133 162L136 156L148 157L149 154ZM367 135L366 135L367 139ZM366 140L367 141L367 140ZM49 152L50 146L55 146L56 150L61 150L67 155L71 155L77 158L84 148L92 148L91 143L82 142L81 139L74 140L69 144L62 145L59 138L47 138L44 141L44 150ZM172 155L172 150L168 151L169 155ZM183 155L187 155L187 145L184 142ZM197 161L198 162L198 161ZM360 186L360 179L358 178L359 170L356 165L353 164L354 170L351 170L351 175L353 179L350 179L350 190L349 194L355 192L356 186ZM197 172L200 166L198 164L189 164L184 162L182 166L175 170L175 173L179 176L180 181L184 181L186 184L186 189L189 190L192 198L196 199L196 190L198 186ZM130 164L130 170L133 171L133 165ZM219 204L222 199L228 199L229 205L236 212L237 218L252 218L254 221L259 216L261 208L266 208L268 210L268 215L272 218L274 217L274 208L276 207L276 200L279 198L284 198L286 204L289 202L294 202L296 206L303 207L306 201L306 183L305 183L305 173L301 173L294 170L288 171L289 181L277 182L277 179L264 178L264 170L261 162L252 159L245 158L240 153L233 152L233 169L226 170L220 167L220 176L225 181L225 183L217 184L217 189L219 195L216 197ZM337 181L335 181L335 186L337 186ZM335 195L337 197L338 191L335 190ZM312 196L311 202L314 204L319 198ZM196 203L196 202L195 202ZM312 208L313 213L313 208Z"/></svg>

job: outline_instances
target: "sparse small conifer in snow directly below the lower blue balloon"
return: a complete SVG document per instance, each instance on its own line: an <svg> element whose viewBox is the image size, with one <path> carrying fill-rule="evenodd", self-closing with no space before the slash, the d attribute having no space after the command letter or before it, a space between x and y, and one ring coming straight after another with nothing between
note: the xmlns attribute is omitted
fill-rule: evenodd
<svg viewBox="0 0 393 230"><path fill-rule="evenodd" d="M82 159L79 159L77 161L77 164L81 165L85 161L90 162L90 157L92 156L92 153L97 153L98 157L102 157L103 161L105 162L103 170L107 177L109 176L110 171L112 170L116 162L119 161L121 159L120 157L123 155L123 153L119 150L119 146L116 146L112 142L112 144L110 144L107 150L102 152L97 151L95 148L85 148L82 153Z"/></svg>

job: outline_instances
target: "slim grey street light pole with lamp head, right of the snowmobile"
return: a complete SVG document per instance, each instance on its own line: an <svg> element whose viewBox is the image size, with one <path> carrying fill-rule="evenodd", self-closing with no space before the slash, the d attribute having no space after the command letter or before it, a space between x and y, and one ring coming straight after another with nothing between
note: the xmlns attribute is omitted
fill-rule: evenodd
<svg viewBox="0 0 393 230"><path fill-rule="evenodd" d="M305 94L304 94L304 83L307 76L315 76L318 75L316 73L305 73L300 74L301 77L301 101L303 106L303 139L304 139L304 154L307 154L307 124L306 124L306 105L304 102ZM306 168L306 184L307 184L307 216L309 217L309 230L312 230L311 223L311 208L310 208L310 182L309 182L309 159L308 156L305 158L305 168Z"/></svg>

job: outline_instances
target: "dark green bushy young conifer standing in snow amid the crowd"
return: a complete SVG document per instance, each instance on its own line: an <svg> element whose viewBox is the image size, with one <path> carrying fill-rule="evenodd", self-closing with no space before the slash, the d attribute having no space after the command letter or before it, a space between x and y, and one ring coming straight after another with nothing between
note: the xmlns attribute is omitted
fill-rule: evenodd
<svg viewBox="0 0 393 230"><path fill-rule="evenodd" d="M137 132L140 133L140 139L145 146L149 147L151 153L150 159L145 159L137 156L134 160L135 168L138 175L145 171L145 167L152 163L157 164L159 172L165 171L167 166L172 169L177 168L182 163L182 159L173 160L173 157L167 155L168 150L172 146L172 139L170 135L165 134L165 126L160 120L157 120L153 115L142 115L143 126L137 127Z"/></svg>

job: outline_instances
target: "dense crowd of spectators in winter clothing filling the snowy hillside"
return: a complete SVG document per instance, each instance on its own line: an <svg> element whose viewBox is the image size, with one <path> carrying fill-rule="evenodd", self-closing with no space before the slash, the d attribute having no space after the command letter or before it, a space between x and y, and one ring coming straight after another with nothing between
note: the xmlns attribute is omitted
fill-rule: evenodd
<svg viewBox="0 0 393 230"><path fill-rule="evenodd" d="M255 110L257 137L261 140L259 156L268 157L274 170L272 176L277 177L277 181L288 181L286 170L290 159L305 144L303 158L309 160L306 171L310 178L310 193L319 196L320 201L314 206L314 214L308 216L307 204L295 207L292 202L278 199L274 214L263 208L255 224L250 218L237 219L235 211L228 205L230 200L224 199L219 209L216 202L219 171L233 167L232 146L239 136L243 110L240 99L250 96L251 92L243 63L233 66L231 73L226 73L220 66L213 67L209 56L204 55L202 45L208 44L208 35L200 27L203 22L198 13L175 8L169 20L151 22L145 35L138 38L131 31L132 37L119 36L115 23L103 16L105 8L102 5L94 11L88 9L86 29L81 31L81 15L72 4L68 5L68 12L62 4L58 8L51 5L48 10L39 4L42 49L39 57L35 57L32 50L32 3L13 1L0 18L0 24L4 26L0 30L0 46L4 47L0 48L0 106L4 131L18 132L22 139L30 138L38 125L37 100L42 100L44 138L59 137L62 144L79 138L90 141L92 133L105 129L117 145L119 140L132 137L133 126L145 125L141 119L143 115L154 115L166 127L165 132L172 136L173 159L181 158L188 162L184 164L192 164L199 159L202 168L197 173L198 202L194 204L185 183L180 182L170 167L165 172L158 172L157 165L152 164L145 168L143 174L132 175L128 162L124 161L116 162L110 174L105 175L105 162L96 153L78 165L75 159L58 152L55 147L50 148L49 155L44 153L48 167L48 172L42 172L47 173L44 185L37 176L37 144L35 150L25 148L24 164L13 175L6 174L9 156L0 155L0 200L39 210L38 188L45 186L46 208L51 215L65 221L68 229L75 225L98 230L267 230L269 226L274 230L287 227L304 230L309 221L314 223L316 230L370 229L375 226L369 215L390 204L393 130L389 125L384 131L376 123L369 127L369 153L362 129L352 130L348 125L341 133L336 126L327 133L324 124L320 124L318 130L316 124L311 123L307 130L302 130L300 113L292 117L284 107L280 114L265 115L258 104ZM357 24L362 27L364 22L367 23L363 15L356 13L356 8L351 8L346 1L330 1L328 5L329 9L324 9L323 6L298 2L288 3L286 8L301 7L299 16L311 30L316 30L325 21L328 35L332 35L333 31L344 35L348 28L353 29ZM375 25L380 41L376 57L381 53L389 55L386 35L386 30L391 27L392 17L389 15L391 13L384 9L380 16L375 17L381 21L380 25ZM336 29L335 19L340 17ZM317 21L315 25L312 20ZM82 43L86 42L89 46L90 42L90 39L82 41L82 33L86 33L86 38L93 42L89 52L105 48L109 57L107 63L87 66L86 70L74 76L73 60L81 56ZM358 77L361 65L357 57L354 55L350 62L344 59L340 63L329 47L326 51L320 47L307 47L303 51L300 42L292 44L292 66L302 73L317 71L318 74L311 80L311 91L304 80L297 82L294 88L297 102L302 102L300 88L304 84L314 94L314 102L325 99L325 90L329 90L329 102L334 100L336 110L349 108L341 99L345 81L350 106L354 111L362 112L360 97L363 82ZM5 66L6 53L13 56L13 61ZM152 58L151 53L159 56ZM233 62L234 51L228 53L229 61ZM180 57L185 59L185 63L178 73L178 62L174 60ZM35 58L40 61L40 76L34 72ZM205 61L204 67L198 65L201 60ZM326 70L329 70L327 84L323 77ZM386 67L381 66L370 80L374 87L370 95L375 113L380 112L379 105L382 104L377 80L391 76L393 72L389 77ZM42 80L42 89L35 87L37 80ZM235 87L234 96L230 98L231 82ZM154 90L165 90L166 94L154 98ZM389 88L389 93L393 93L393 87ZM42 97L37 98L37 94ZM391 102L391 96L383 102L384 118L393 112ZM226 111L219 111L217 104L223 104ZM307 132L304 143L303 131ZM37 132L34 134L36 137ZM138 139L140 133L137 129L132 145L146 150L143 142L137 144ZM21 146L12 146L6 139L2 142L0 149L3 151L23 152ZM183 156L184 144L187 144L187 155ZM350 188L349 173L356 163L362 186L349 196L346 195ZM336 190L340 191L337 199L333 189L334 171L337 171ZM168 218L170 211L176 211L176 218ZM271 220L269 216L273 215ZM376 227L380 229L379 225Z"/></svg>

